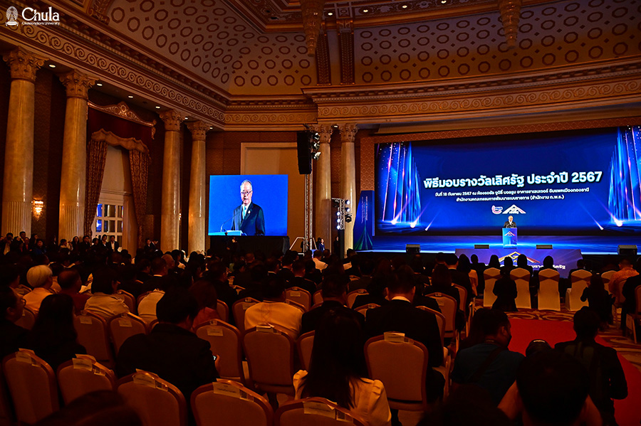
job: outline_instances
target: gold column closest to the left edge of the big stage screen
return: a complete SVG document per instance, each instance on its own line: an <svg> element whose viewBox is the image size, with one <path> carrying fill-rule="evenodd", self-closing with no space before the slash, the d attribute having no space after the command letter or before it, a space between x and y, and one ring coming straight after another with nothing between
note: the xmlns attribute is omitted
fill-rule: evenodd
<svg viewBox="0 0 641 426"><path fill-rule="evenodd" d="M356 156L354 137L358 127L356 124L342 124L340 130L340 196L350 201L352 216L355 217L356 203ZM345 223L345 250L354 248L354 222Z"/></svg>

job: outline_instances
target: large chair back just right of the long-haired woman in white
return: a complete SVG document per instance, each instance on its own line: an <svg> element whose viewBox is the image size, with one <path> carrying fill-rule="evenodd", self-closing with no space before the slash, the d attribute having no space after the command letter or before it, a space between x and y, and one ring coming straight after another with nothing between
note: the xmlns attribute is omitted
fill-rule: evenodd
<svg viewBox="0 0 641 426"><path fill-rule="evenodd" d="M365 342L370 378L382 381L390 408L397 410L427 407L427 359L427 348L402 333L385 333Z"/></svg>

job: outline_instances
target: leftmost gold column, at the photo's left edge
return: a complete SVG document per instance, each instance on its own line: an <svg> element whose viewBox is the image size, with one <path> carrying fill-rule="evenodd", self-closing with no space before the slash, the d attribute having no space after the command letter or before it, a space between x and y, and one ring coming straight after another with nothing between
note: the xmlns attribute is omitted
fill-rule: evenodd
<svg viewBox="0 0 641 426"><path fill-rule="evenodd" d="M16 48L3 56L11 69L9 115L4 151L2 235L31 234L33 198L33 118L36 71L46 58Z"/></svg>

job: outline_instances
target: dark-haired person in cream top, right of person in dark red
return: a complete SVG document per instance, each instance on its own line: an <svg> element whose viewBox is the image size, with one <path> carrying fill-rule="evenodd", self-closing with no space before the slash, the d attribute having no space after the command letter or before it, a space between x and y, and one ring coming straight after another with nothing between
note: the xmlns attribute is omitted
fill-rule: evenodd
<svg viewBox="0 0 641 426"><path fill-rule="evenodd" d="M103 267L96 271L91 283L92 296L85 303L85 311L100 315L104 319L128 312L129 308L125 301L113 295L117 286L118 282L113 269Z"/></svg>

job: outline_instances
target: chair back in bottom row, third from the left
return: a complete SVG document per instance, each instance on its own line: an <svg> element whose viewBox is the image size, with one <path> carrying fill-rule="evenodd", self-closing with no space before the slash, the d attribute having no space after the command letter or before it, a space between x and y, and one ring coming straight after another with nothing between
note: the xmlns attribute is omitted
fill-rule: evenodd
<svg viewBox="0 0 641 426"><path fill-rule="evenodd" d="M143 426L186 426L184 396L167 380L139 371L118 380L118 393L137 412Z"/></svg>

